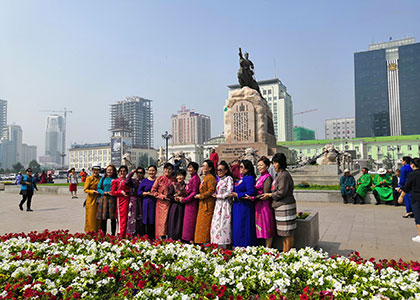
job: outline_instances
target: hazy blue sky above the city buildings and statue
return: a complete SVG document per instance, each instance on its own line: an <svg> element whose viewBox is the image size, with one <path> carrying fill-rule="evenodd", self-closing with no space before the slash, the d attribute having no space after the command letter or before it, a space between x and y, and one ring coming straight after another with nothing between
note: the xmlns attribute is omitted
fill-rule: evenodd
<svg viewBox="0 0 420 300"><path fill-rule="evenodd" d="M419 1L0 0L0 99L8 122L44 153L46 115L68 116L67 144L109 140L109 104L153 100L155 146L185 104L223 131L238 47L257 80L292 95L295 125L324 137L324 120L354 116L353 53L416 37Z"/></svg>

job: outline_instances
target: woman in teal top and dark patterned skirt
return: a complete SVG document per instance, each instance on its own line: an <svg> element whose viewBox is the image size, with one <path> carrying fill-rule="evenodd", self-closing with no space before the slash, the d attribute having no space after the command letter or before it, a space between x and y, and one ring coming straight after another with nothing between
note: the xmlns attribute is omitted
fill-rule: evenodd
<svg viewBox="0 0 420 300"><path fill-rule="evenodd" d="M106 167L105 176L99 180L97 198L98 212L96 218L101 222L101 229L106 234L108 219L111 220L111 234L117 230L117 199L111 195L112 181L117 179L117 169L114 165Z"/></svg>

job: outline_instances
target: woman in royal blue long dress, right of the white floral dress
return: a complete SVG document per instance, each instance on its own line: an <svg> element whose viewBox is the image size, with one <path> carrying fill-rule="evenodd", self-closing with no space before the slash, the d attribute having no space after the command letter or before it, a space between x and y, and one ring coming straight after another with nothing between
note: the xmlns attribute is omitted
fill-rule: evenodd
<svg viewBox="0 0 420 300"><path fill-rule="evenodd" d="M242 178L235 184L231 196L232 207L232 244L234 247L257 245L255 229L255 203L250 197L255 196L255 170L249 160L242 160L239 165Z"/></svg>

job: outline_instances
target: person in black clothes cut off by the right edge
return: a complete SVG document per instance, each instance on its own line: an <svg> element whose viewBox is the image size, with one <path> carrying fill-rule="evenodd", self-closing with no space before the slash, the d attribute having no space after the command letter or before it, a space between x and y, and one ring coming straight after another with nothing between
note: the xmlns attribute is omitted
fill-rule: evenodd
<svg viewBox="0 0 420 300"><path fill-rule="evenodd" d="M415 158L411 161L411 172L407 176L407 182L401 188L401 195L398 198L398 203L404 202L404 196L411 193L411 206L413 207L414 220L417 227L417 236L413 237L413 242L420 243L420 159Z"/></svg>

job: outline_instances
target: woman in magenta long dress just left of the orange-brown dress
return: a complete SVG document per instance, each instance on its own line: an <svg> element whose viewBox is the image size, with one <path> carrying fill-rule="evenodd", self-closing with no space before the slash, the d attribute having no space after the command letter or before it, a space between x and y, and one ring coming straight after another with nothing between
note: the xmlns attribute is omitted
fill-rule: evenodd
<svg viewBox="0 0 420 300"><path fill-rule="evenodd" d="M194 242L195 223L197 221L198 201L194 197L198 194L200 188L200 177L197 174L198 164L190 162L187 167L191 178L186 188L186 196L179 197L179 200L185 204L184 222L182 226L182 240L184 242Z"/></svg>

